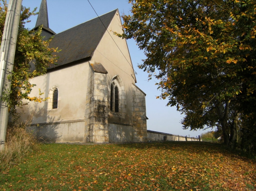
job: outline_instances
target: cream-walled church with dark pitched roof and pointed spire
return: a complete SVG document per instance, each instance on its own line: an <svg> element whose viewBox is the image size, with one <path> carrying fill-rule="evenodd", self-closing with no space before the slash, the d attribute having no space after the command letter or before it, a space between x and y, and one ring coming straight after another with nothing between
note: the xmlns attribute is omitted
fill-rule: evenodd
<svg viewBox="0 0 256 191"><path fill-rule="evenodd" d="M60 52L57 65L31 79L48 98L19 110L46 142L147 141L146 94L137 87L118 9L55 34L42 0L34 30ZM41 97L42 97L41 96Z"/></svg>

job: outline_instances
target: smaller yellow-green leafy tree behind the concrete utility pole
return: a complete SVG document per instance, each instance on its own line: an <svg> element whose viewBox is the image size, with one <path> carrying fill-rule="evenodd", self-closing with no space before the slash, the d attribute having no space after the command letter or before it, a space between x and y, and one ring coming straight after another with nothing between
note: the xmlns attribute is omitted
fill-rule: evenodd
<svg viewBox="0 0 256 191"><path fill-rule="evenodd" d="M42 93L39 90L39 96L29 97L31 90L35 84L30 83L30 79L34 76L43 75L49 64L55 64L56 57L53 55L57 49L49 48L49 42L43 41L41 36L41 28L37 31L30 31L25 28L25 24L30 22L28 19L31 15L36 15L36 8L30 12L30 8L22 6L18 39L15 51L14 67L10 92L4 92L3 98L8 100L9 112L16 113L16 106L22 107L23 99L29 101L41 102L45 99L41 98ZM4 31L5 18L7 13L6 1L0 3L0 38ZM31 71L31 65L34 65L34 71Z"/></svg>

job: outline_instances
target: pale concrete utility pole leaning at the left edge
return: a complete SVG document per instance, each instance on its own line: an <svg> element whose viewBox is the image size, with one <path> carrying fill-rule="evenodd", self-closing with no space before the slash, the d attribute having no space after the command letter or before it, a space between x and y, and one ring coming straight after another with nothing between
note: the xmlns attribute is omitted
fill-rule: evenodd
<svg viewBox="0 0 256 191"><path fill-rule="evenodd" d="M22 0L9 0L5 19L5 28L0 49L0 151L5 148L5 136L8 122L8 103L2 99L3 92L9 92L13 63L18 36Z"/></svg>

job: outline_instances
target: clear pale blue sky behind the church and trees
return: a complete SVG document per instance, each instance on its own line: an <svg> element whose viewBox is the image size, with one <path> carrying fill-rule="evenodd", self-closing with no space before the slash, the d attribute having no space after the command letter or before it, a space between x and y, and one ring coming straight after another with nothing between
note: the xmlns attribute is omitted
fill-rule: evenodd
<svg viewBox="0 0 256 191"><path fill-rule="evenodd" d="M128 0L89 0L100 16L114 9L119 9L120 14L129 14L131 5ZM34 9L40 8L41 0L23 0L22 5ZM57 34L78 24L86 22L97 17L93 8L87 0L47 0L49 28ZM37 16L31 17L31 22L26 25L27 28L35 27ZM136 42L133 39L127 41L130 56L132 58L133 67L137 73L137 86L146 94L147 107L147 129L176 135L190 135L195 137L207 131L189 131L183 130L180 121L182 115L176 111L175 107L167 107L167 100L156 99L160 95L160 90L157 90L155 83L156 79L148 81L148 74L143 72L137 66L142 63L145 58L143 51L139 50Z"/></svg>

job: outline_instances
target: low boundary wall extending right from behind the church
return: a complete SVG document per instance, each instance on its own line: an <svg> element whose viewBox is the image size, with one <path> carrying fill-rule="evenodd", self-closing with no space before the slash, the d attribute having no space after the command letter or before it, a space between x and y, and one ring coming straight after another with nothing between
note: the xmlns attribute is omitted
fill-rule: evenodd
<svg viewBox="0 0 256 191"><path fill-rule="evenodd" d="M184 137L180 135L173 135L150 130L147 130L147 132L148 141L200 141L198 138L194 137Z"/></svg>

